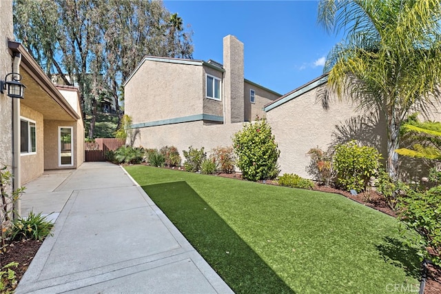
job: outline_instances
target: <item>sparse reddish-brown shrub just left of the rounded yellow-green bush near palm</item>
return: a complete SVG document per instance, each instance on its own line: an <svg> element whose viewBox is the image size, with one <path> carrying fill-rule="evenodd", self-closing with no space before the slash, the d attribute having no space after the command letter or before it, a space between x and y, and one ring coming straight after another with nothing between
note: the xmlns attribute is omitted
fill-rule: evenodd
<svg viewBox="0 0 441 294"><path fill-rule="evenodd" d="M334 177L331 155L320 148L309 149L307 155L311 157L309 166L306 168L307 173L316 181L328 186Z"/></svg>

